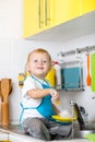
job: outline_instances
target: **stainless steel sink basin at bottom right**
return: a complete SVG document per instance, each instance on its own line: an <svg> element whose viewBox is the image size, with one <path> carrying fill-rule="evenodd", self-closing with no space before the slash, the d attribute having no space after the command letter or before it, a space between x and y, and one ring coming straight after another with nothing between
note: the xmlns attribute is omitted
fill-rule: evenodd
<svg viewBox="0 0 95 142"><path fill-rule="evenodd" d="M74 138L85 138L85 134L95 133L95 130L80 130L74 132Z"/></svg>

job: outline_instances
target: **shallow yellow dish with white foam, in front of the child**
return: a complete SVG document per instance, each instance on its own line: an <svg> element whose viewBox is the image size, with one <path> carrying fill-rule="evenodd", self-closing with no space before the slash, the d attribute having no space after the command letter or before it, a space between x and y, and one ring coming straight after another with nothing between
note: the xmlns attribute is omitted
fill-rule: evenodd
<svg viewBox="0 0 95 142"><path fill-rule="evenodd" d="M76 117L73 117L73 118L63 118L63 117L60 117L58 115L55 115L55 116L51 116L55 120L57 121L60 121L60 122L72 122L72 121L75 121L76 120Z"/></svg>

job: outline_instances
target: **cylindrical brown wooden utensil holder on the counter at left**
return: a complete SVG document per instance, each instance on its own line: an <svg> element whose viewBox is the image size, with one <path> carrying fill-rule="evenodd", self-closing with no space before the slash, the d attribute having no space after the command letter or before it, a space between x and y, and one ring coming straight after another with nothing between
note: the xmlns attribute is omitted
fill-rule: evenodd
<svg viewBox="0 0 95 142"><path fill-rule="evenodd" d="M9 103L1 102L1 126L8 127L9 126Z"/></svg>

